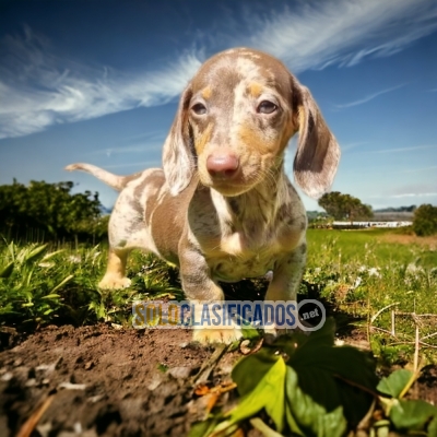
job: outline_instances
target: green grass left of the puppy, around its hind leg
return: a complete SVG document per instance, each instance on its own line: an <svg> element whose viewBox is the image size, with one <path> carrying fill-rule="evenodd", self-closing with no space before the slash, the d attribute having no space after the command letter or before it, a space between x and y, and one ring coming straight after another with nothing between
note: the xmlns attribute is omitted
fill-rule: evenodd
<svg viewBox="0 0 437 437"><path fill-rule="evenodd" d="M129 263L132 286L101 291L106 247L59 248L0 244L0 323L21 330L48 323L128 324L134 300L181 294L177 274L155 258L134 252Z"/></svg>

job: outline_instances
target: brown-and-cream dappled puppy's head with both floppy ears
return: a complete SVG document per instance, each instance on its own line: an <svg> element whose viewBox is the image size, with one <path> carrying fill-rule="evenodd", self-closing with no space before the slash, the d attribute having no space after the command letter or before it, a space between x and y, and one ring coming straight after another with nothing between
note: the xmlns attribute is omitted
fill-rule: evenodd
<svg viewBox="0 0 437 437"><path fill-rule="evenodd" d="M251 49L209 59L189 83L164 145L173 194L194 172L224 196L241 194L282 165L295 132L295 179L310 197L329 189L340 149L309 91L275 58Z"/></svg>

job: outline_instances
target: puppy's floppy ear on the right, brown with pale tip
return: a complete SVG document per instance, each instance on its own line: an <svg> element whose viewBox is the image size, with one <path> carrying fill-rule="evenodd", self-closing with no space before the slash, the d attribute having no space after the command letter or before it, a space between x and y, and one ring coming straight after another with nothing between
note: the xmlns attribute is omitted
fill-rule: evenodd
<svg viewBox="0 0 437 437"><path fill-rule="evenodd" d="M299 141L294 158L294 178L303 191L317 199L335 176L340 147L307 87L293 83L293 110L297 114Z"/></svg>

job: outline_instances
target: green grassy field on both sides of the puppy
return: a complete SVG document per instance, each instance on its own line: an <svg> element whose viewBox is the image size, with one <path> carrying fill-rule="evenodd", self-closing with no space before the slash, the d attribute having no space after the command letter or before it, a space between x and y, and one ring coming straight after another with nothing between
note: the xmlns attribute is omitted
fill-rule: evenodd
<svg viewBox="0 0 437 437"><path fill-rule="evenodd" d="M2 323L34 327L52 322L129 323L130 304L174 295L181 297L177 272L150 256L133 253L129 262L132 287L101 292L107 258L105 247L59 248L0 244L0 318ZM355 317L368 331L374 352L408 359L414 350L415 323L398 316L393 338L391 309L437 315L437 237L417 238L389 229L308 231L308 262L304 275L339 314ZM305 287L303 287L304 290ZM395 305L394 305L395 304ZM421 319L421 335L437 332L437 317ZM437 335L436 335L437 339ZM433 358L434 338L424 340Z"/></svg>

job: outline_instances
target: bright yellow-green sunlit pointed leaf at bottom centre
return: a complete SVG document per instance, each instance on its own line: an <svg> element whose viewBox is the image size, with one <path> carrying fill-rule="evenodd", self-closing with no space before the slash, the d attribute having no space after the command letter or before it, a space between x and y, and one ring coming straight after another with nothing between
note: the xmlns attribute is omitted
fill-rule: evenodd
<svg viewBox="0 0 437 437"><path fill-rule="evenodd" d="M255 356L255 355L252 355ZM250 358L250 357L248 357ZM256 368L253 368L255 370ZM272 418L279 432L282 432L284 426L284 385L285 385L286 366L282 357L279 357L272 365L270 363L269 370L261 379L256 379L258 383L240 403L231 412L229 421L226 422L226 427L236 424L240 421L249 418L257 414L262 409ZM234 377L234 373L233 373ZM251 379L253 375L246 374L245 379ZM234 379L235 380L235 379ZM237 382L238 383L238 382ZM247 382L245 383L247 387ZM238 387L238 386L237 386ZM223 424L218 425L215 430L222 430Z"/></svg>

